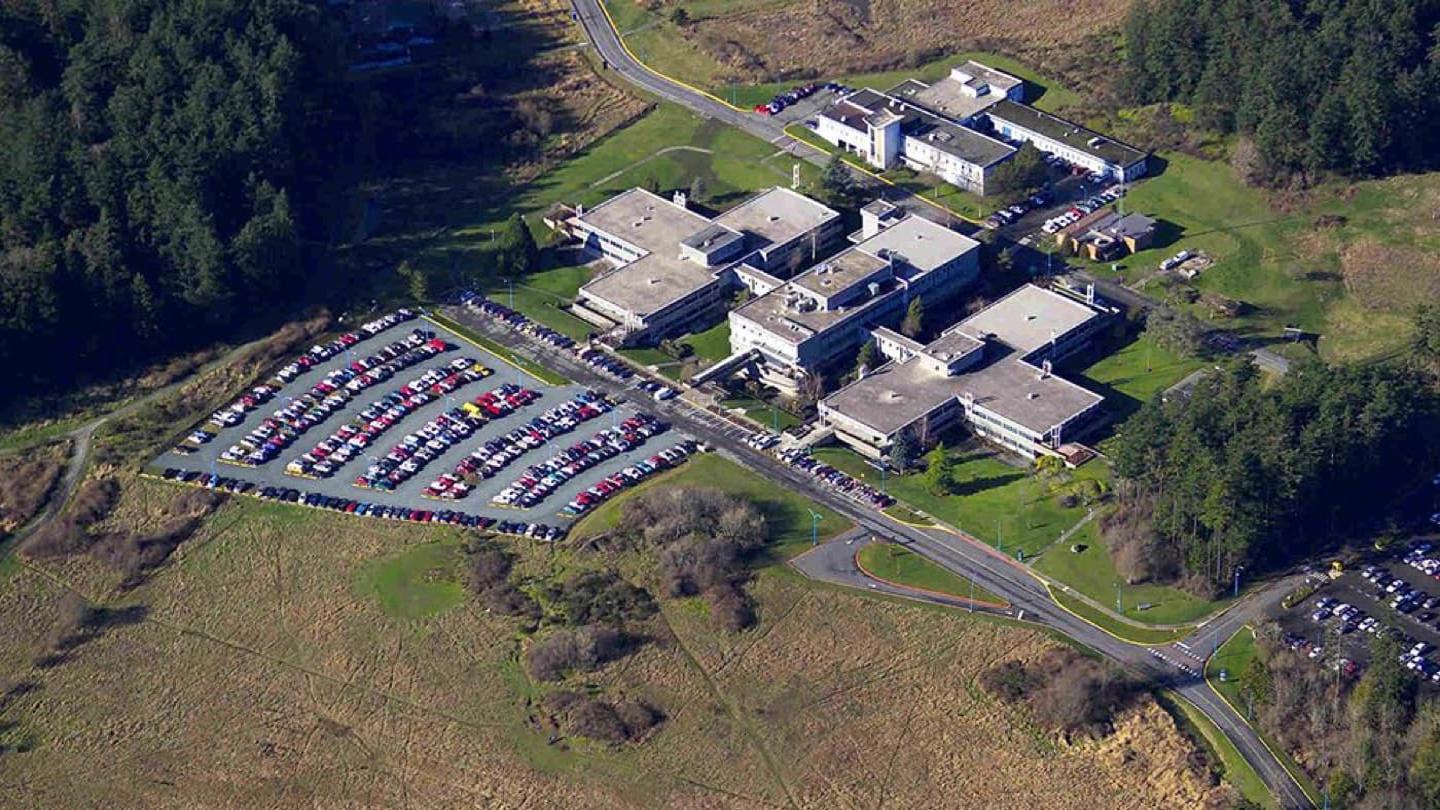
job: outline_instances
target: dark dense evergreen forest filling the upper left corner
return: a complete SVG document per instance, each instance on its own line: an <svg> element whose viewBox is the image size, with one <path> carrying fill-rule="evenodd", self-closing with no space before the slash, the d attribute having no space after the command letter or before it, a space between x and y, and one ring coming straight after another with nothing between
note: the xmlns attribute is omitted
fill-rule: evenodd
<svg viewBox="0 0 1440 810"><path fill-rule="evenodd" d="M0 4L0 399L300 298L353 183L344 48L300 0Z"/></svg>

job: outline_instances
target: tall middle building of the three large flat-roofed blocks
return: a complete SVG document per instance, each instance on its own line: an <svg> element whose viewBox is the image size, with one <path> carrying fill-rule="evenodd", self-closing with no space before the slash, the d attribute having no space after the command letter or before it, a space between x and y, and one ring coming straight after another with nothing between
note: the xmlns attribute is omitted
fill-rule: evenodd
<svg viewBox="0 0 1440 810"><path fill-rule="evenodd" d="M730 313L730 350L755 352L762 379L795 391L806 373L848 362L910 301L939 304L979 275L979 242L884 206L861 212L855 245Z"/></svg>

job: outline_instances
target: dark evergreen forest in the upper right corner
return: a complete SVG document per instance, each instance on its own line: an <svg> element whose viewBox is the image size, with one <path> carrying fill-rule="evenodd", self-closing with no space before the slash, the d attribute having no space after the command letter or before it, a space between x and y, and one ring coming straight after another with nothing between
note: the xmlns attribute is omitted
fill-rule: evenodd
<svg viewBox="0 0 1440 810"><path fill-rule="evenodd" d="M1437 26L1436 0L1139 0L1120 84L1244 135L1260 182L1428 169Z"/></svg>

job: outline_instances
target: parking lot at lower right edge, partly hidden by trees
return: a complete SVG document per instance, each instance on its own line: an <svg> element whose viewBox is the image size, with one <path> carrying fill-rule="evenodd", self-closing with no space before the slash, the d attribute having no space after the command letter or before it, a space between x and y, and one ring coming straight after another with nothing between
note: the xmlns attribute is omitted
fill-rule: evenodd
<svg viewBox="0 0 1440 810"><path fill-rule="evenodd" d="M1358 676L1369 662L1372 637L1390 633L1407 669L1440 687L1440 552L1431 543L1417 540L1377 553L1326 578L1279 615L1287 646L1316 666Z"/></svg>

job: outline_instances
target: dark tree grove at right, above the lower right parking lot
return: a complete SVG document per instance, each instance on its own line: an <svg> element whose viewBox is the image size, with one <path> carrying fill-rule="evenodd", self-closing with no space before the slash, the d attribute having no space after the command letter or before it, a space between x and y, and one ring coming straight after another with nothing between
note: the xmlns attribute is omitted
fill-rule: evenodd
<svg viewBox="0 0 1440 810"><path fill-rule="evenodd" d="M1273 571L1384 533L1440 458L1437 415L1417 370L1309 362L1266 385L1237 363L1125 422L1106 539L1130 579L1215 592L1237 568Z"/></svg>

